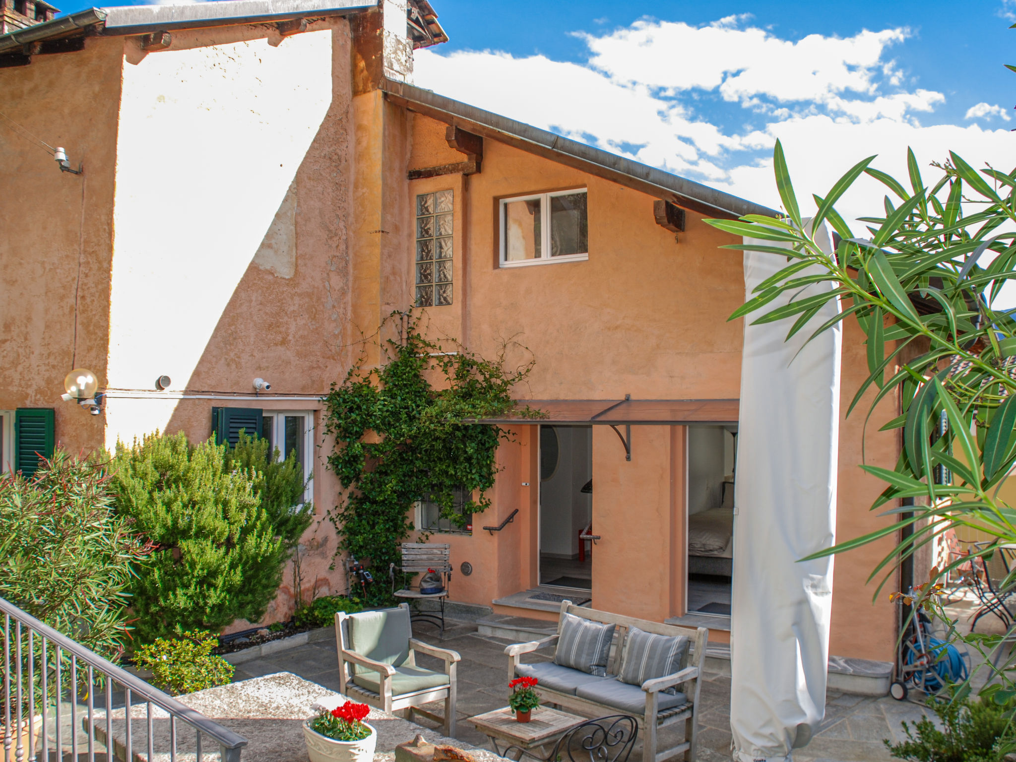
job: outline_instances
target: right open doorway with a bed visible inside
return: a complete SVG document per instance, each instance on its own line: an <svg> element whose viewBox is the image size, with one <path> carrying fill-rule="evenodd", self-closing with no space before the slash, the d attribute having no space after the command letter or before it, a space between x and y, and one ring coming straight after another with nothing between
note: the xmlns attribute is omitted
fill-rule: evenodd
<svg viewBox="0 0 1016 762"><path fill-rule="evenodd" d="M738 425L688 430L688 613L731 616Z"/></svg>

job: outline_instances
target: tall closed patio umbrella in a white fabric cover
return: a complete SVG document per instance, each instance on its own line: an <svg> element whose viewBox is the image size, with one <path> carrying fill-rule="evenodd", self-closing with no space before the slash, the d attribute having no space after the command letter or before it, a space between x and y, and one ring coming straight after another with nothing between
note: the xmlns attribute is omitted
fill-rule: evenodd
<svg viewBox="0 0 1016 762"><path fill-rule="evenodd" d="M831 250L824 226L816 239ZM773 245L747 238L745 244ZM775 254L746 251L747 299L786 264ZM750 324L791 294L745 319L731 618L731 727L739 762L790 759L825 713L833 563L799 559L834 542L841 329L837 324L802 350L835 315L831 302L788 341L796 316Z"/></svg>

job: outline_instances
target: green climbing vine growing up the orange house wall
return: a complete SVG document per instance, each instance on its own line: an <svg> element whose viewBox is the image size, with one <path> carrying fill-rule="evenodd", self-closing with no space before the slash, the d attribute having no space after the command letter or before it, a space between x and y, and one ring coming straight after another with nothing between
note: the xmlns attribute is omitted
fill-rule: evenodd
<svg viewBox="0 0 1016 762"><path fill-rule="evenodd" d="M463 422L511 410L512 387L533 367L530 358L506 370L504 346L485 360L457 342L439 344L424 336L420 320L411 311L393 312L386 323L398 321L398 337L382 342L381 365L368 367L361 355L324 400L325 431L335 437L328 465L346 491L329 514L340 538L336 556L369 559L378 583L366 589L368 605L391 595L388 565L399 563L398 545L414 528L409 511L417 501L432 500L442 517L459 525L457 489L465 489L463 512L490 507L497 448L508 433ZM528 407L521 415L538 416Z"/></svg>

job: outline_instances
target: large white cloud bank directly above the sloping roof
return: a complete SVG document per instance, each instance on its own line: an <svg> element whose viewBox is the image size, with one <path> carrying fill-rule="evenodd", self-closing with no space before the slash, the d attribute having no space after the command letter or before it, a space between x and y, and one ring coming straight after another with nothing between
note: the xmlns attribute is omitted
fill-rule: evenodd
<svg viewBox="0 0 1016 762"><path fill-rule="evenodd" d="M905 181L907 146L923 167L950 149L974 167L1016 166L1008 130L922 124L946 98L917 87L889 57L907 29L783 40L748 23L744 16L704 26L640 20L600 36L582 34L585 64L421 50L416 76L442 94L774 208L776 138L803 206L875 153L875 166ZM988 111L976 113L981 107ZM997 109L978 105L968 117L1002 116ZM848 221L871 216L884 193L865 179L838 208Z"/></svg>

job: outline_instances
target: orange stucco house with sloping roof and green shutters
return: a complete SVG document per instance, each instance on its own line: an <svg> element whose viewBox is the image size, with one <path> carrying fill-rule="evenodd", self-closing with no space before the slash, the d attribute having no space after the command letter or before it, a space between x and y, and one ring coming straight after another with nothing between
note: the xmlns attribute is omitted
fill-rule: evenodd
<svg viewBox="0 0 1016 762"><path fill-rule="evenodd" d="M722 643L744 278L702 219L776 212L414 86L414 48L446 39L426 0L92 8L0 36L4 467L257 428L301 453L320 518L339 490L320 397L416 304L481 355L519 338L548 414L504 422L471 530L418 508L452 546L452 597L550 619L585 593ZM845 331L844 411L867 376ZM60 400L72 368L94 405ZM863 424L840 429L840 538L886 520ZM892 467L877 428L867 461ZM831 653L892 660L896 613L866 586L891 542L837 561ZM343 591L331 525L304 546L316 590ZM292 606L287 578L272 615Z"/></svg>

